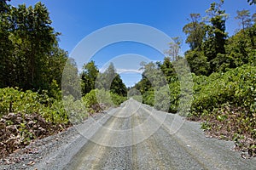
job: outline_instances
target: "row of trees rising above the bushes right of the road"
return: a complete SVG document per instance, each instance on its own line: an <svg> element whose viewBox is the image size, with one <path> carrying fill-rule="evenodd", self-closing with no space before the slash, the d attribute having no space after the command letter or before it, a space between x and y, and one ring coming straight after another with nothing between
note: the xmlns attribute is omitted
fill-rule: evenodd
<svg viewBox="0 0 256 170"><path fill-rule="evenodd" d="M135 88L139 88L142 94L150 89L151 84L145 76L153 67L163 72L167 82L175 82L177 73L173 64L183 58L196 76L209 76L214 72L255 64L256 13L250 14L246 9L237 10L236 20L241 29L229 37L225 26L228 14L222 8L223 3L223 0L211 3L206 17L190 14L189 23L183 26L183 32L187 35L185 42L190 49L185 52L184 57L179 56L182 40L174 37L162 63L142 63L143 78Z"/></svg>

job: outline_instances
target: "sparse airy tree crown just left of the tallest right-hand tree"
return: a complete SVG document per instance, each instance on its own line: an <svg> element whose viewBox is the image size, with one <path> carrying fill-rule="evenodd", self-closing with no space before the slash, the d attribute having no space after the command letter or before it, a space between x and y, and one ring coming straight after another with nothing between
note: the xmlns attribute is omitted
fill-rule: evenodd
<svg viewBox="0 0 256 170"><path fill-rule="evenodd" d="M200 22L200 14L190 14L190 23L183 26L183 32L188 35L186 43L189 43L189 47L194 50L198 48L201 50L201 44L205 37L204 22Z"/></svg>

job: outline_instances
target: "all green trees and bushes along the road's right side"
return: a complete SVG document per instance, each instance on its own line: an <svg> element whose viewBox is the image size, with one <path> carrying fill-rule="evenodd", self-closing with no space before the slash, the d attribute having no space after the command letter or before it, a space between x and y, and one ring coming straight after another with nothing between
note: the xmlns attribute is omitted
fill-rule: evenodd
<svg viewBox="0 0 256 170"><path fill-rule="evenodd" d="M202 128L209 135L233 139L236 146L247 148L249 155L255 156L256 14L245 9L237 11L236 20L241 29L228 37L225 32L228 18L223 3L223 0L212 3L204 20L200 14L190 14L190 23L183 27L190 46L184 58L177 56L175 50L179 44L175 46L172 42L169 53L166 53L169 57L163 62L143 63L143 78L133 88L140 91L143 103L154 105L156 109L167 104L170 112L204 121ZM187 65L184 59L189 64L194 85L193 82L182 82L180 77L189 80L189 74L183 71ZM167 84L161 83L163 81L155 70L162 72ZM156 94L166 94L161 89L166 85L170 89L167 92L170 94L169 104L156 97ZM190 85L193 91L189 89ZM191 97L193 101L189 103Z"/></svg>

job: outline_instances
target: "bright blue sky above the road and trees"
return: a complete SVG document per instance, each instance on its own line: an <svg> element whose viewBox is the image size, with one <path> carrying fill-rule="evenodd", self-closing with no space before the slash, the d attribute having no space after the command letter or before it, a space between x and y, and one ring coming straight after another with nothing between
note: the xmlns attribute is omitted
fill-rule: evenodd
<svg viewBox="0 0 256 170"><path fill-rule="evenodd" d="M34 5L37 0L12 0L10 4L17 6L20 3ZM139 23L152 26L165 32L170 37L182 37L182 51L189 49L185 44L186 36L183 26L188 23L189 14L199 13L205 16L210 0L42 0L49 9L52 26L55 31L61 32L60 47L69 53L91 32L105 26L120 23ZM226 27L230 35L239 28L235 20L236 10L249 9L255 13L255 6L250 6L247 0L225 0L224 9L230 14ZM91 59L96 61L99 69L122 54L139 54L149 60L162 60L164 56L156 50L140 43L122 42L102 48ZM132 60L132 59L131 59ZM138 59L140 60L140 59ZM132 62L131 62L132 63ZM127 61L127 65L129 61ZM79 66L83 65L78 63ZM122 69L122 68L119 68ZM127 86L133 85L140 79L139 72L125 72L121 74Z"/></svg>

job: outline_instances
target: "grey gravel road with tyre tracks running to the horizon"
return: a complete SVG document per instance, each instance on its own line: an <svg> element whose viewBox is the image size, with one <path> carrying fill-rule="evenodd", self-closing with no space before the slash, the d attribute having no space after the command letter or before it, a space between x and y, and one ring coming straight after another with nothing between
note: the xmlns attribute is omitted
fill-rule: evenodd
<svg viewBox="0 0 256 170"><path fill-rule="evenodd" d="M243 159L233 147L206 138L198 122L130 99L29 145L35 153L21 150L12 155L21 161L0 169L256 169L255 158Z"/></svg>

